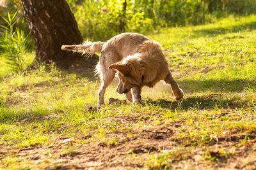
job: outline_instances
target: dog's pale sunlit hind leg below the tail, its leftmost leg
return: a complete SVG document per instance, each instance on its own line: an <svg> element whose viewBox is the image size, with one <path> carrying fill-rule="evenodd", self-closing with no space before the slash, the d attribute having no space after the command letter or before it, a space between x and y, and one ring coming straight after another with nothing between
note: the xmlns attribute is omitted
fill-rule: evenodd
<svg viewBox="0 0 256 170"><path fill-rule="evenodd" d="M101 85L98 93L98 108L104 104L104 94L111 81L115 78L115 71L107 70L100 73Z"/></svg>

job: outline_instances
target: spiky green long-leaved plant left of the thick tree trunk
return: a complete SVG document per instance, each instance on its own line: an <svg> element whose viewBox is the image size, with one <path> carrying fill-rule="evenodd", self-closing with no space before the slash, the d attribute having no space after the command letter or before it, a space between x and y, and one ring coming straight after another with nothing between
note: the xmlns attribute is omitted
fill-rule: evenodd
<svg viewBox="0 0 256 170"><path fill-rule="evenodd" d="M17 12L3 18L7 26L0 25L0 55L6 59L6 64L11 67L12 71L22 73L24 70L23 55L26 52L26 41L28 36L19 28L15 28Z"/></svg>

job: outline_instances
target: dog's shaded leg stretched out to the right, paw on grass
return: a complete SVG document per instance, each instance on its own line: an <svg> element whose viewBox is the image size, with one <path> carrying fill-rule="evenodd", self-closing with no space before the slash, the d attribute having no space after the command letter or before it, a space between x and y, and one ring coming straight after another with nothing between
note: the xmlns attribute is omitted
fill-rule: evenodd
<svg viewBox="0 0 256 170"><path fill-rule="evenodd" d="M173 94L177 100L183 98L183 96L184 96L183 91L182 91L182 89L180 89L178 83L173 79L170 71L167 74L166 78L164 78L164 81L171 85Z"/></svg>

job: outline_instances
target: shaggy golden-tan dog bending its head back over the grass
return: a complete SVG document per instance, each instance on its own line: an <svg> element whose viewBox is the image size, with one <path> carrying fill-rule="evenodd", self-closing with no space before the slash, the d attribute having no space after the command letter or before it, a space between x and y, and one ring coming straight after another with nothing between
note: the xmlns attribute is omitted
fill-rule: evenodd
<svg viewBox="0 0 256 170"><path fill-rule="evenodd" d="M173 79L159 43L136 33L123 33L106 43L84 42L81 45L63 45L62 50L92 55L100 52L96 70L101 85L98 94L98 108L104 104L106 88L117 76L120 80L116 92L125 94L131 103L141 103L141 88L154 87L160 80L170 84L176 99L183 92Z"/></svg>

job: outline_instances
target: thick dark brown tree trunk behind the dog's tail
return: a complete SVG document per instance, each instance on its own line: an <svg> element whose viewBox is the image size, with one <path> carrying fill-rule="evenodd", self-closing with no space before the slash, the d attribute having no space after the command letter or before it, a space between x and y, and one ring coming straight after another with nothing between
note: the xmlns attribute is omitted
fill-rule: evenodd
<svg viewBox="0 0 256 170"><path fill-rule="evenodd" d="M21 2L34 39L37 61L49 63L77 57L77 54L61 50L61 45L83 42L77 22L65 0Z"/></svg>

